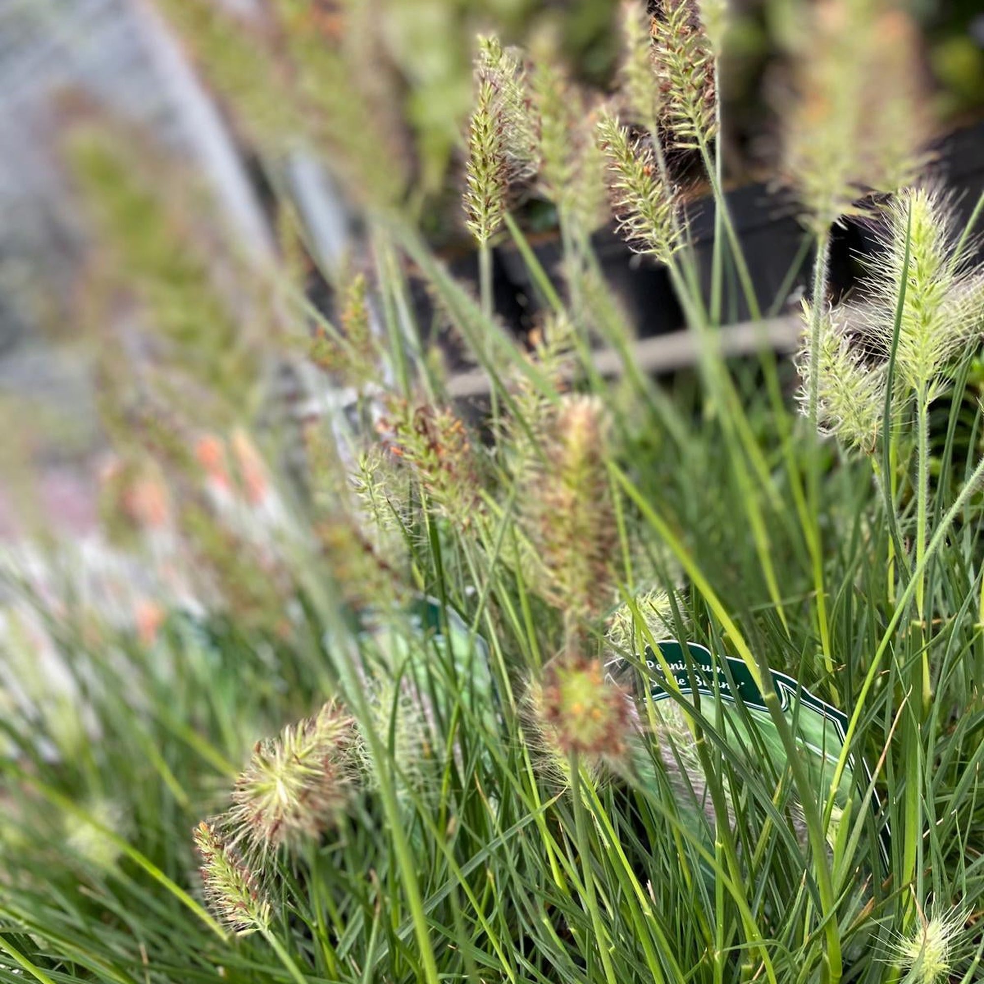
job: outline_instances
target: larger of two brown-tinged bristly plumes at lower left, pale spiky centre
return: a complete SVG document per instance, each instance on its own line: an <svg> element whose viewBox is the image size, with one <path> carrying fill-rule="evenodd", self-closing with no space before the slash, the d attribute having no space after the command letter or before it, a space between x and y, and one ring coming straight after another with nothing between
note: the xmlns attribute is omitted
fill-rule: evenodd
<svg viewBox="0 0 984 984"><path fill-rule="evenodd" d="M337 819L352 792L354 734L352 718L330 703L257 743L228 814L251 856L296 846Z"/></svg>

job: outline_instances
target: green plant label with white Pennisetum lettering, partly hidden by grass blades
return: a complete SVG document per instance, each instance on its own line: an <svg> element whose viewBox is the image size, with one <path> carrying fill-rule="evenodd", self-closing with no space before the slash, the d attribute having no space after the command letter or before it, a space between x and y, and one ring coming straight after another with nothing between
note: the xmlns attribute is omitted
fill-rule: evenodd
<svg viewBox="0 0 984 984"><path fill-rule="evenodd" d="M679 698L693 699L696 696L693 706L711 721L714 720L714 714L706 704L701 705L701 699L713 702L711 707L720 707L726 713L724 736L730 747L753 763L756 757L767 756L777 772L784 770L785 746L769 715L765 696L744 660L733 656L721 659L707 646L699 646L697 643L683 644L667 640L656 646L658 654L650 646L646 646L644 654L653 701L673 700L674 689ZM842 711L821 701L785 673L770 670L769 675L779 699L779 707L789 718L797 744L805 753L804 761L818 802L824 803L844 750L848 718ZM674 681L672 685L670 678ZM855 795L855 771L858 768L856 757L853 754L848 755L834 796L836 809L831 824L834 832L838 819ZM860 762L860 769L870 784L871 773L863 761ZM875 793L872 803L876 823L881 825L879 836L882 857L888 864L889 830L882 823L881 804Z"/></svg>

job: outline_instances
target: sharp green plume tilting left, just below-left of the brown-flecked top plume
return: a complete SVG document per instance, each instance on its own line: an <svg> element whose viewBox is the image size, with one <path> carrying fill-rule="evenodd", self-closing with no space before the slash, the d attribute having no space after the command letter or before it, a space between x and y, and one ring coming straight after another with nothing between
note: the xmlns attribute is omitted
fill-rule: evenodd
<svg viewBox="0 0 984 984"><path fill-rule="evenodd" d="M682 245L677 206L656 171L651 148L633 146L629 131L608 111L601 114L597 136L619 231L636 252L668 262Z"/></svg>

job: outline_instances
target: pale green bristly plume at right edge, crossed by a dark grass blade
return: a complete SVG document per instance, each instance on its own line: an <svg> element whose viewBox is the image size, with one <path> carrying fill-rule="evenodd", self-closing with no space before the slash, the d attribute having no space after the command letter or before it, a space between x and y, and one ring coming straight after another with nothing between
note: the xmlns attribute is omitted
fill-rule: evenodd
<svg viewBox="0 0 984 984"><path fill-rule="evenodd" d="M895 370L913 393L932 399L953 360L980 332L984 278L969 269L970 250L957 248L953 208L931 188L910 188L886 210L883 248L868 265L867 329L888 353L903 276ZM908 241L908 268L905 268Z"/></svg>

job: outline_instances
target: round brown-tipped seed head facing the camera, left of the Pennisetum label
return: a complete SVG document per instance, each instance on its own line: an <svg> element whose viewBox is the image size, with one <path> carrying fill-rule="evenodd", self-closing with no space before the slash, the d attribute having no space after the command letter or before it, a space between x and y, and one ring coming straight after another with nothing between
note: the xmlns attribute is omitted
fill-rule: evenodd
<svg viewBox="0 0 984 984"><path fill-rule="evenodd" d="M632 726L630 698L605 678L600 660L554 660L543 675L537 704L560 751L607 758L625 752Z"/></svg>

